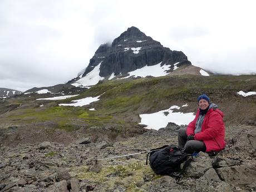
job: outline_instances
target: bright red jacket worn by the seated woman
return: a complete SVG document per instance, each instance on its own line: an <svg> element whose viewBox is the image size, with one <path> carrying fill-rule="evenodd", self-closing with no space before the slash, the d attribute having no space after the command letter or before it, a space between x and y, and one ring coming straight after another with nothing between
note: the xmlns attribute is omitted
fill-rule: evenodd
<svg viewBox="0 0 256 192"><path fill-rule="evenodd" d="M206 152L220 151L225 148L225 126L223 122L223 112L218 109L209 109L205 114L201 132L194 133L195 123L199 117L199 110L195 119L191 121L186 129L186 135L194 135L195 140L204 141Z"/></svg>

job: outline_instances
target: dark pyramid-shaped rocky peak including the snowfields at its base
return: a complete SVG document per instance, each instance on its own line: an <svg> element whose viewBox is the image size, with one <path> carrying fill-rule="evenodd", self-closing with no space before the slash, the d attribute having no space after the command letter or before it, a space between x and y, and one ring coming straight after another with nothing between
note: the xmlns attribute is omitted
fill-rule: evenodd
<svg viewBox="0 0 256 192"><path fill-rule="evenodd" d="M151 73L145 74L142 71L146 68L152 73L159 71L163 76L184 66L191 66L191 62L183 52L171 51L160 42L146 36L138 28L130 27L115 38L111 45L101 45L91 58L85 72L68 83L75 86L90 86L95 85L99 80L150 76ZM136 70L140 71L135 74Z"/></svg>

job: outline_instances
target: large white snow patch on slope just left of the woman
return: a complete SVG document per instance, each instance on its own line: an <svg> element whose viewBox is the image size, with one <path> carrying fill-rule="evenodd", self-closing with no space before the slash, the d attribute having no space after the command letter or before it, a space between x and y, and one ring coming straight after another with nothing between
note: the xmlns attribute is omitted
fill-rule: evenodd
<svg viewBox="0 0 256 192"><path fill-rule="evenodd" d="M174 105L167 110L152 114L141 114L141 122L139 124L147 125L146 129L159 130L162 127L166 127L169 122L174 122L177 125L188 125L195 118L193 112L184 114L183 112L173 112L173 109L180 109L180 107Z"/></svg>

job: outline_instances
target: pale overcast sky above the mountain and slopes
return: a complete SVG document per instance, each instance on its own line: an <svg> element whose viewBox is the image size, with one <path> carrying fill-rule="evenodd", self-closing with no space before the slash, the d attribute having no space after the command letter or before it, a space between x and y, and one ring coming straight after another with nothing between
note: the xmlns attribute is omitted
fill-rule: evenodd
<svg viewBox="0 0 256 192"><path fill-rule="evenodd" d="M0 0L0 87L65 83L135 26L195 66L256 73L255 1Z"/></svg>

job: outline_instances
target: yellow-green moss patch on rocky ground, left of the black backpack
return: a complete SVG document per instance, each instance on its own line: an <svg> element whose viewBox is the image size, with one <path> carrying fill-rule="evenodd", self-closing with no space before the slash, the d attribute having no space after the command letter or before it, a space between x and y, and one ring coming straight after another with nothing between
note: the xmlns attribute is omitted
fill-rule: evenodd
<svg viewBox="0 0 256 192"><path fill-rule="evenodd" d="M144 183L144 177L154 178L155 173L144 161L129 160L122 165L103 166L100 173L89 171L88 166L73 167L70 174L78 179L89 179L94 183L105 186L105 189L112 190L114 186L124 186L127 191L140 191L137 186Z"/></svg>

